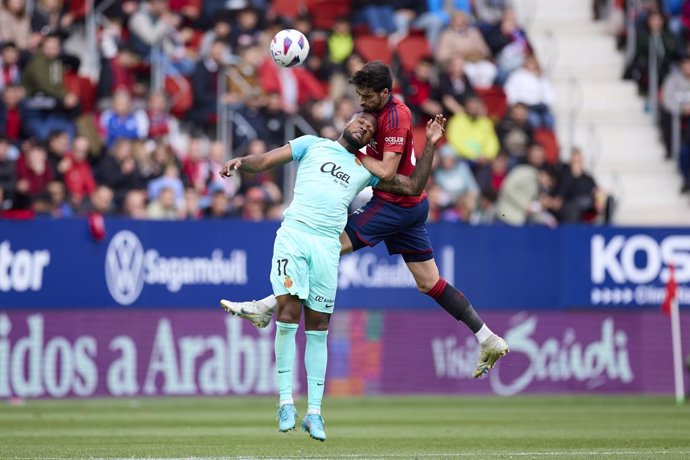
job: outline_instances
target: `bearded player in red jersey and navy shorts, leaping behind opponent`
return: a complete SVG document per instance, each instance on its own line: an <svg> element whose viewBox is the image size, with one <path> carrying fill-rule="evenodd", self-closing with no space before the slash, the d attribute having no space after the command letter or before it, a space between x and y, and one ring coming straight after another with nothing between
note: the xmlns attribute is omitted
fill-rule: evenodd
<svg viewBox="0 0 690 460"><path fill-rule="evenodd" d="M412 118L407 106L392 94L390 68L380 61L369 62L350 78L350 83L355 86L362 110L374 114L378 122L375 139L366 147L366 154L358 157L381 180L390 180L396 174L409 176L415 166ZM472 375L478 378L508 353L508 345L484 324L467 297L440 276L426 230L428 212L426 193L415 197L374 190L372 199L348 218L340 235L340 253L383 241L389 254L400 254L417 289L465 323L477 337L480 355ZM263 327L270 321L275 298L239 303L223 300L221 305Z"/></svg>

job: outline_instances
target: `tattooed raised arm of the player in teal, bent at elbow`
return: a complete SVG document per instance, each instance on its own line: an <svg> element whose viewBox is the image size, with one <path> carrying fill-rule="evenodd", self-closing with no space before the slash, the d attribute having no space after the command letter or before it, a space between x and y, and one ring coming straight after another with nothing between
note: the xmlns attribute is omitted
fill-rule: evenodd
<svg viewBox="0 0 690 460"><path fill-rule="evenodd" d="M446 126L446 119L443 115L436 115L433 120L429 120L426 124L426 145L421 158L417 161L417 165L412 171L412 175L403 176L396 174L390 181L379 182L377 189L386 192L396 193L398 195L413 195L419 196L424 191L426 183L431 174L431 165L434 162L434 152L436 151L436 144L443 137L443 130ZM364 167L367 167L367 158L362 158ZM373 160L369 158L369 160Z"/></svg>

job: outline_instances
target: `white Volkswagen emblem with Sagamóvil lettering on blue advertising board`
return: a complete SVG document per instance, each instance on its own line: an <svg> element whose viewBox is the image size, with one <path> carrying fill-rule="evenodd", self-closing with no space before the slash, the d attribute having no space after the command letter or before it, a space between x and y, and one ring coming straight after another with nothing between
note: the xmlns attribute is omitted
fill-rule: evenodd
<svg viewBox="0 0 690 460"><path fill-rule="evenodd" d="M216 248L211 257L164 257L144 249L129 230L113 236L105 255L105 281L115 302L131 305L145 285L164 285L178 292L185 285L247 284L247 253L234 250L226 258Z"/></svg>

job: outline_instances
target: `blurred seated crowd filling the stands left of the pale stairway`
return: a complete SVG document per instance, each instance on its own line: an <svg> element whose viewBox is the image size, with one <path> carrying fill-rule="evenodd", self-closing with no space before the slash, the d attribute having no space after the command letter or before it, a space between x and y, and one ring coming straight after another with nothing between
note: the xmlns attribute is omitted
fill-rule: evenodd
<svg viewBox="0 0 690 460"><path fill-rule="evenodd" d="M282 171L222 180L228 152L283 145L296 117L336 138L358 110L347 79L373 59L394 70L417 152L428 118L449 118L427 187L430 221L608 217L582 154L560 161L554 90L510 0L96 4L94 79L83 71L84 0L36 0L33 11L2 0L0 217L280 219ZM286 27L310 40L303 66L270 59L270 39ZM219 102L232 114L232 145L217 138Z"/></svg>

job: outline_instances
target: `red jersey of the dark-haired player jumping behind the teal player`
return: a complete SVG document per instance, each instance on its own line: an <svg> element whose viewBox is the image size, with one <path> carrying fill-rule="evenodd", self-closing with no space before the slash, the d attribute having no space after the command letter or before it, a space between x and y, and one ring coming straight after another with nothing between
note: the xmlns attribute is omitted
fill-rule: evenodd
<svg viewBox="0 0 690 460"><path fill-rule="evenodd" d="M378 121L378 129L376 136L367 146L367 155L381 160L383 152L399 153L401 157L398 174L411 175L416 164L416 157L410 109L391 95L386 106L374 115ZM374 195L384 201L409 208L422 201L426 197L426 192L423 192L421 196L403 196L374 189Z"/></svg>

